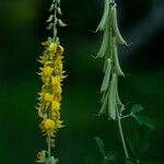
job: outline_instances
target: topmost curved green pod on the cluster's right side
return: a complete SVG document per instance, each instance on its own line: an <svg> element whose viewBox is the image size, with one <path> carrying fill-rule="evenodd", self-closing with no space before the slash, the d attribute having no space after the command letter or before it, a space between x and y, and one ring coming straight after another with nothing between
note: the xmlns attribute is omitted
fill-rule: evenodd
<svg viewBox="0 0 164 164"><path fill-rule="evenodd" d="M118 43L120 45L127 45L126 40L120 35L120 32L118 28L116 3L110 5L110 16L112 16L112 27L114 31L116 43Z"/></svg>

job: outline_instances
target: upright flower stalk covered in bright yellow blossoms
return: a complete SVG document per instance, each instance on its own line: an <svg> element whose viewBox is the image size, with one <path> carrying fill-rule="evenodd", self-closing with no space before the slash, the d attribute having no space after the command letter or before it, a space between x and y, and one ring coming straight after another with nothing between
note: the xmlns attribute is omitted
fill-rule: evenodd
<svg viewBox="0 0 164 164"><path fill-rule="evenodd" d="M55 137L59 128L62 128L62 120L60 117L61 108L61 93L62 81L66 78L63 71L63 47L60 45L57 36L57 26L66 26L66 24L58 19L61 15L60 1L52 0L49 9L50 15L46 21L49 25L46 27L52 32L52 36L43 42L45 50L39 56L38 61L40 79L43 81L42 90L38 93L37 110L40 118L39 128L46 137L47 150L39 151L37 154L37 163L56 164L58 160L51 155L51 148L55 147Z"/></svg>

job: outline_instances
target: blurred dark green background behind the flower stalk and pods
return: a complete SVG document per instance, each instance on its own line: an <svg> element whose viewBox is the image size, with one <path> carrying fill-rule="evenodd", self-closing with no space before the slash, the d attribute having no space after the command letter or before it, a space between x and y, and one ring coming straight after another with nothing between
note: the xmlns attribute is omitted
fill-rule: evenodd
<svg viewBox="0 0 164 164"><path fill-rule="evenodd" d="M46 148L38 128L35 105L42 82L37 58L50 0L0 1L0 163L34 164ZM156 129L150 156L163 161L164 154L164 1L117 0L118 21L129 47L119 47L126 78L119 93L126 105L141 104ZM60 164L84 164L87 155L98 155L94 138L99 136L107 150L121 149L117 126L106 117L95 117L101 103L102 59L93 59L102 42L94 34L103 12L102 0L61 0L59 30L65 46L62 118L66 127L57 134L56 156ZM125 122L126 124L126 122ZM125 125L126 126L126 125Z"/></svg>

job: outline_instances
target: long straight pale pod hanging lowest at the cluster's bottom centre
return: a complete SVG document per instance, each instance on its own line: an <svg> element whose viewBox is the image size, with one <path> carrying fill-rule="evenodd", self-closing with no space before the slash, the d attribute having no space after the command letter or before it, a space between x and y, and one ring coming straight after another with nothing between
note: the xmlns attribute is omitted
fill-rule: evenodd
<svg viewBox="0 0 164 164"><path fill-rule="evenodd" d="M116 87L117 87L117 75L116 73L113 73L108 95L108 118L113 120L116 119Z"/></svg>

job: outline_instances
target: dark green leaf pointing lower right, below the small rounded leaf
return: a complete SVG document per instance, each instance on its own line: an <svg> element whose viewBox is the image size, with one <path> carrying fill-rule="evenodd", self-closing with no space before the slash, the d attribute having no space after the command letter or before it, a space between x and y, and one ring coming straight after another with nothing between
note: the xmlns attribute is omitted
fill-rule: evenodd
<svg viewBox="0 0 164 164"><path fill-rule="evenodd" d="M132 116L138 121L139 125L147 126L152 130L155 129L154 122L148 116L144 115L132 115Z"/></svg>

